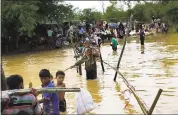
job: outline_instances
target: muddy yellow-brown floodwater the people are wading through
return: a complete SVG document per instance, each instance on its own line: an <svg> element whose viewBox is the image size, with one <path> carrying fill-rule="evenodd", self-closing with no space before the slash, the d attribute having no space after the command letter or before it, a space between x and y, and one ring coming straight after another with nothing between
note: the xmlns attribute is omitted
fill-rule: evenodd
<svg viewBox="0 0 178 115"><path fill-rule="evenodd" d="M112 52L109 44L101 47L103 60L116 67L122 49L123 41L118 46L117 53ZM136 92L151 106L159 88L164 92L153 113L178 113L178 34L146 37L144 54L141 54L139 40L128 38L120 72L135 87ZM40 87L39 71L47 68L55 77L57 70L64 70L75 63L72 49L57 49L26 53L2 57L6 76L20 74L24 78L25 87L29 81L33 87ZM80 87L91 92L97 107L91 114L137 114L142 113L137 101L131 95L130 104L124 99L123 91L126 89L121 77L113 81L115 71L108 65L102 72L100 62L97 63L98 79L86 80L83 66L83 75L76 72L76 68L66 71L65 83L67 87ZM66 93L67 113L76 113L75 93Z"/></svg>

